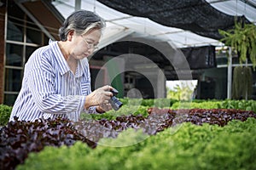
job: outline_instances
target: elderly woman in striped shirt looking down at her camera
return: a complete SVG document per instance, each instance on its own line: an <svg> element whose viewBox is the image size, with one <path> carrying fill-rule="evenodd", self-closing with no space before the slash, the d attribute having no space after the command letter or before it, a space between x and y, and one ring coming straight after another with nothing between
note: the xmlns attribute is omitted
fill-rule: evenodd
<svg viewBox="0 0 256 170"><path fill-rule="evenodd" d="M97 14L79 10L67 17L59 30L61 41L38 48L25 65L20 94L9 121L68 118L79 121L81 112L109 111L112 87L90 91L87 57L102 36L104 21Z"/></svg>

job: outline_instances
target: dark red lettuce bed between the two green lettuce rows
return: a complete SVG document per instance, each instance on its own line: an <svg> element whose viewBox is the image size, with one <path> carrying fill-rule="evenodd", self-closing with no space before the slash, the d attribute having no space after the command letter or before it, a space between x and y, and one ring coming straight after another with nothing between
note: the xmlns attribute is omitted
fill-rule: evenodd
<svg viewBox="0 0 256 170"><path fill-rule="evenodd" d="M169 110L149 108L148 116L118 116L114 120L83 120L70 122L67 119L40 120L37 122L9 122L0 130L0 168L15 169L23 163L30 152L39 152L44 146L73 145L82 141L96 148L102 138L117 138L128 129L142 129L155 135L168 127L183 122L195 125L208 123L224 127L232 120L244 122L248 117L256 118L253 111L235 109L191 109Z"/></svg>

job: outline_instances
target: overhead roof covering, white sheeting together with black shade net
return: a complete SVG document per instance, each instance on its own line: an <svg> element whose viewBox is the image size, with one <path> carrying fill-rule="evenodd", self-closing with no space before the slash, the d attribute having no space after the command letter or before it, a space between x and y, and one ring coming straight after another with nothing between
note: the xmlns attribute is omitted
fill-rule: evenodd
<svg viewBox="0 0 256 170"><path fill-rule="evenodd" d="M55 0L67 18L76 8L94 11L107 21L100 46L131 35L172 43L177 48L223 46L218 29L238 20L255 23L256 0ZM244 3L246 2L246 3Z"/></svg>

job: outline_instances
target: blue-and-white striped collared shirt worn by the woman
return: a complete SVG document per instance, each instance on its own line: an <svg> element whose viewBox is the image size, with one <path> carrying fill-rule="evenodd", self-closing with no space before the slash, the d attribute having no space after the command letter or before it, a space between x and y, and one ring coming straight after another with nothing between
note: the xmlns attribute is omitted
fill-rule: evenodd
<svg viewBox="0 0 256 170"><path fill-rule="evenodd" d="M25 65L24 77L9 121L35 121L61 116L74 122L84 111L85 96L90 94L88 59L78 60L73 74L57 42L38 48ZM87 111L96 113L95 107Z"/></svg>

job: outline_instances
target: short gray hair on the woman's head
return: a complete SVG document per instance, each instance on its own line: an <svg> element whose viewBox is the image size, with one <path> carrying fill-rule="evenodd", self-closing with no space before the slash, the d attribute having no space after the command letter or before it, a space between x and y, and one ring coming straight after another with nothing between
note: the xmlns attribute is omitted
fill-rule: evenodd
<svg viewBox="0 0 256 170"><path fill-rule="evenodd" d="M70 14L59 29L59 37L61 41L67 41L67 34L69 31L75 31L82 35L93 29L101 30L105 27L105 21L97 14L79 10Z"/></svg>

